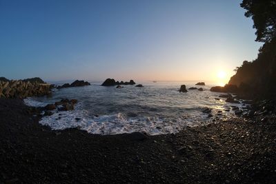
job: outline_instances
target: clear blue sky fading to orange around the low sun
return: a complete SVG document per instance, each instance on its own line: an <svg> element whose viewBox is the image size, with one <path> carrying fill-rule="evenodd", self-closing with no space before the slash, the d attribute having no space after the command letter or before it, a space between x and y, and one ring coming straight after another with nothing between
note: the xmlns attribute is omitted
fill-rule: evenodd
<svg viewBox="0 0 276 184"><path fill-rule="evenodd" d="M0 0L0 76L227 81L262 45L239 3Z"/></svg>

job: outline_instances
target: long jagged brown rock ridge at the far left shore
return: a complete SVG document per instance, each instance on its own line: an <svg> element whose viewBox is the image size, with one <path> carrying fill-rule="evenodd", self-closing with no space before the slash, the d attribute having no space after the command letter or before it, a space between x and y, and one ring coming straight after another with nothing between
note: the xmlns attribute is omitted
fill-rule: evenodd
<svg viewBox="0 0 276 184"><path fill-rule="evenodd" d="M30 81L0 81L0 98L24 99L28 96L50 94L50 84Z"/></svg>

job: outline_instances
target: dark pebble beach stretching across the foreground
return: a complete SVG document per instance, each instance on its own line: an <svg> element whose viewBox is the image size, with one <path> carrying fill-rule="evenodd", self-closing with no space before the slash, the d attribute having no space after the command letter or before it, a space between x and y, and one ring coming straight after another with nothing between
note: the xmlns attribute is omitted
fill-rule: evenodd
<svg viewBox="0 0 276 184"><path fill-rule="evenodd" d="M0 99L3 183L273 183L275 115L177 134L51 130L19 99Z"/></svg>

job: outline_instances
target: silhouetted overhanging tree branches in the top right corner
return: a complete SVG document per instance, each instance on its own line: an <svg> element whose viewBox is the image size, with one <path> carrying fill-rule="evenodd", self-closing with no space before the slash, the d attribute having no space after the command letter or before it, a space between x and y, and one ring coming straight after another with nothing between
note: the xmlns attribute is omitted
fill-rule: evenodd
<svg viewBox="0 0 276 184"><path fill-rule="evenodd" d="M270 42L276 37L276 1L244 0L241 7L246 9L245 16L252 17L256 28L256 41Z"/></svg>

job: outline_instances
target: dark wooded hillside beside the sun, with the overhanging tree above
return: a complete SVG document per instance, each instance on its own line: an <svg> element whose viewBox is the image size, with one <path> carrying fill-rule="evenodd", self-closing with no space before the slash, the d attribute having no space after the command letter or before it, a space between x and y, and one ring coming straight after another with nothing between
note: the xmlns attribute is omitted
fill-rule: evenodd
<svg viewBox="0 0 276 184"><path fill-rule="evenodd" d="M275 97L276 83L276 1L244 0L242 8L246 9L246 17L252 17L253 28L256 28L256 41L264 42L259 49L257 59L244 61L241 67L235 69L229 84L243 85L255 94L264 98Z"/></svg>

